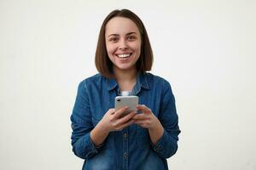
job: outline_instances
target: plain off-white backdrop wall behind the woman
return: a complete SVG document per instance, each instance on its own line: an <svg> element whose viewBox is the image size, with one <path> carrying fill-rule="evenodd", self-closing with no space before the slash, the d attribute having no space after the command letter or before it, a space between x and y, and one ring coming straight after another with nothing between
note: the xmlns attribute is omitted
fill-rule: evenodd
<svg viewBox="0 0 256 170"><path fill-rule="evenodd" d="M152 72L172 84L182 133L170 169L255 170L253 0L0 0L0 169L81 169L69 117L116 8L143 20Z"/></svg>

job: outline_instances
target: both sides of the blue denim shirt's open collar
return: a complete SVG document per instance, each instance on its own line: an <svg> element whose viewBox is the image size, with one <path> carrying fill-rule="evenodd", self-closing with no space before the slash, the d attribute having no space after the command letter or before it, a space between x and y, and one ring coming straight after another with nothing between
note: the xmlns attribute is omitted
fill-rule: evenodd
<svg viewBox="0 0 256 170"><path fill-rule="evenodd" d="M149 82L148 82L147 73L138 73L137 82L135 87L133 88L134 94L138 94L141 88L150 89L148 83ZM111 91L118 86L118 83L114 78L107 78L107 86L108 86L108 91Z"/></svg>

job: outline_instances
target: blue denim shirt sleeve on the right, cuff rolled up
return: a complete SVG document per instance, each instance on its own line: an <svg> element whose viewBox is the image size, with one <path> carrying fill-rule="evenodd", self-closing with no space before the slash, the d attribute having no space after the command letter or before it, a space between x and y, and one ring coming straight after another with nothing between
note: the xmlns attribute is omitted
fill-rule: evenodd
<svg viewBox="0 0 256 170"><path fill-rule="evenodd" d="M159 120L164 127L164 134L156 144L152 144L154 151L162 158L173 156L177 151L178 117L175 106L174 95L169 82L163 82L164 93L160 104Z"/></svg>

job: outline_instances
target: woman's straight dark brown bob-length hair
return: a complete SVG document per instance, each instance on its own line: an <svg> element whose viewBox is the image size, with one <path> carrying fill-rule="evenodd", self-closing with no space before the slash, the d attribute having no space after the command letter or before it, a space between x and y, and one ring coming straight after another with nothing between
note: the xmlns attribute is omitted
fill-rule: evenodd
<svg viewBox="0 0 256 170"><path fill-rule="evenodd" d="M113 19L113 17L125 17L127 19L132 20L141 34L142 45L141 45L141 54L139 59L137 59L137 72L144 73L146 71L150 71L153 65L153 52L148 39L148 33L146 31L145 26L143 25L143 21L128 9L122 10L113 10L102 23L102 27L99 33L97 47L96 47L96 55L95 55L95 64L96 69L99 71L102 76L113 78L113 63L108 58L107 48L106 48L106 39L105 39L105 31L106 25L108 21Z"/></svg>

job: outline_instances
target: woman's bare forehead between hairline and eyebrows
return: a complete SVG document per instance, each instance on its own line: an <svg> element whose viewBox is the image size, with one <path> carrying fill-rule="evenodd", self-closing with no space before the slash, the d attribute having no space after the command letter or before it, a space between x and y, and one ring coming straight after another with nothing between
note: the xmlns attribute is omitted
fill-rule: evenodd
<svg viewBox="0 0 256 170"><path fill-rule="evenodd" d="M123 35L129 32L137 32L139 34L136 24L125 17L114 17L106 25L106 36L111 34Z"/></svg>

